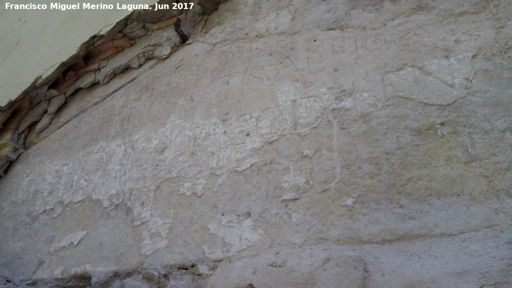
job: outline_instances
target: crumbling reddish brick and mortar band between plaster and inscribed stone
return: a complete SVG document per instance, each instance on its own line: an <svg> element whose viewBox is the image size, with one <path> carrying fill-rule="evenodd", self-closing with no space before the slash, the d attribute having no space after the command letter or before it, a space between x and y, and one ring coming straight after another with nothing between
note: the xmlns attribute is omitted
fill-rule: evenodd
<svg viewBox="0 0 512 288"><path fill-rule="evenodd" d="M165 9L160 5L160 10ZM184 32L191 34L194 25L203 20L206 15L202 14L203 10L198 5L197 0L186 5L190 5L190 9L187 9L179 17L183 21L182 29ZM144 13L146 12L148 11ZM155 19L160 19L166 13L160 11L155 13L154 17ZM169 13L172 16L177 12ZM177 32L173 29L174 27L169 26L169 23L172 22L174 24L173 21L177 20L178 16L176 16L156 23L151 32L147 33L145 31L143 33L144 35L149 35L137 40L136 45L133 46L133 42L130 39L117 32L121 29L124 32L140 31L144 24L138 22L140 19L135 15L140 16L140 13L134 12L127 19L120 20L111 31L105 32L104 34L107 39L92 37L94 39L83 43L83 47L89 47L86 51L83 51L83 47L81 47L80 49L82 50L79 49L77 53L71 55L66 63L61 63L59 68L51 70L53 71L51 72L52 74L58 74L57 78L53 78L48 82L46 78L49 76L45 76L46 80L43 79L44 75L40 76L37 80L38 88L34 88L34 85L31 85L26 89L29 92L27 92L28 94L22 100L11 102L6 107L0 107L0 110L5 109L0 115L0 177L5 174L12 161L25 152L25 147L30 148L45 138L40 133L51 124L54 114L60 105L63 104L63 101L74 95L78 89L88 88L97 82L100 84L109 83L115 75L123 73L128 69L140 67L147 59L155 58L162 60L167 58L181 45L181 35L178 37ZM146 13L146 16L149 15L151 13ZM126 24L131 22L133 23L126 26ZM162 23L165 23L165 25L161 25ZM157 26L161 27L158 28ZM91 46L93 43L96 44ZM119 53L122 50L125 50L124 53ZM40 114L42 112L41 105L37 105L33 111L29 112L32 106L42 101L44 101L42 103L48 106L48 100L54 97L55 99L52 100L48 107L48 113L44 114L44 116ZM25 120L20 123L20 120L24 118L27 112L29 112L29 117L25 117ZM15 133L16 131L22 133L23 131L28 131L27 128L37 121L39 122L34 125L34 129L30 129L30 133L27 132L27 134L24 134L25 136L18 137L19 135ZM20 124L19 127L18 124ZM48 134L51 134L51 132L48 132Z"/></svg>

